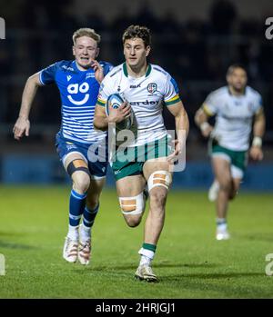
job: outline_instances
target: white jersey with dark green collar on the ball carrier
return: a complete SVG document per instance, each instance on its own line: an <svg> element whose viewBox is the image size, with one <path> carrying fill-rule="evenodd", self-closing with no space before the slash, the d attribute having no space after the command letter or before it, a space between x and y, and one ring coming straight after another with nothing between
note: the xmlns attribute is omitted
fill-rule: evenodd
<svg viewBox="0 0 273 317"><path fill-rule="evenodd" d="M128 75L126 63L106 74L98 94L97 104L106 105L111 94L120 94L135 114L137 136L126 146L138 146L159 140L167 135L163 106L180 101L176 81L160 66L148 64L147 73L139 78Z"/></svg>

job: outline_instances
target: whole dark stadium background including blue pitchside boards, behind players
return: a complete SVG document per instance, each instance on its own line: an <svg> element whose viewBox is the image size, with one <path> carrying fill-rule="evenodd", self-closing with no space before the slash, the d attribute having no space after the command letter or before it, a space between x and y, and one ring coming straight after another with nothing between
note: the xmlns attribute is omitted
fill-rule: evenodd
<svg viewBox="0 0 273 317"><path fill-rule="evenodd" d="M263 163L250 163L243 188L273 190L273 39L265 36L272 0L87 1L13 0L1 4L5 40L0 40L0 182L65 183L55 151L60 100L55 86L38 90L28 138L15 142L12 128L27 77L58 60L71 59L73 32L95 28L102 35L100 59L123 62L121 36L128 25L152 32L149 61L177 80L187 108L190 134L187 167L174 186L206 188L212 180L207 141L194 124L206 95L225 84L227 66L248 68L249 85L264 98L267 131ZM173 124L165 114L167 127ZM109 176L109 184L113 184Z"/></svg>

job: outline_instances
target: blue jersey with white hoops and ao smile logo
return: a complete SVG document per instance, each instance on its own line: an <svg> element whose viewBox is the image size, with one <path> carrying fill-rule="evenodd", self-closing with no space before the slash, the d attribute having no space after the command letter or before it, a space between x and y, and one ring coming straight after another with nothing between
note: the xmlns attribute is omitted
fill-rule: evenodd
<svg viewBox="0 0 273 317"><path fill-rule="evenodd" d="M106 75L112 64L99 62ZM92 68L81 71L76 61L60 61L40 72L41 84L56 83L62 101L62 126L60 133L67 139L91 144L106 137L106 132L96 131L93 120L99 84Z"/></svg>

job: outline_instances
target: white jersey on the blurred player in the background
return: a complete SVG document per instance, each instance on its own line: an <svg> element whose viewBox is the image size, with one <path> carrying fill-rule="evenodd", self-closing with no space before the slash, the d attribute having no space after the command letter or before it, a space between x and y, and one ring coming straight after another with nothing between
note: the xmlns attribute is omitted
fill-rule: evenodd
<svg viewBox="0 0 273 317"><path fill-rule="evenodd" d="M247 86L245 94L233 95L227 86L208 94L203 109L208 115L216 114L212 136L218 144L233 151L247 151L252 119L262 106L261 95Z"/></svg>

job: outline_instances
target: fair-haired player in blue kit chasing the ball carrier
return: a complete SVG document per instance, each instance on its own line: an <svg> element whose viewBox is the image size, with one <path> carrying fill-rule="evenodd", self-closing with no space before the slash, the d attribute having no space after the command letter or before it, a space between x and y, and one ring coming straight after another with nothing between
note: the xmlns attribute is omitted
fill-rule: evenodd
<svg viewBox="0 0 273 317"><path fill-rule="evenodd" d="M56 150L73 183L63 250L69 263L89 263L91 228L106 179L106 133L94 130L93 119L99 85L112 65L96 61L99 42L100 35L93 29L78 29L73 35L75 60L51 64L27 79L13 130L16 140L29 135L29 113L37 88L56 84L62 101Z"/></svg>

